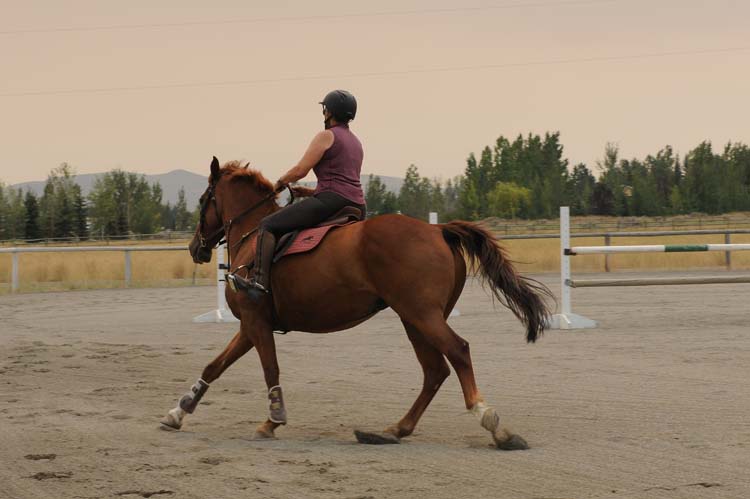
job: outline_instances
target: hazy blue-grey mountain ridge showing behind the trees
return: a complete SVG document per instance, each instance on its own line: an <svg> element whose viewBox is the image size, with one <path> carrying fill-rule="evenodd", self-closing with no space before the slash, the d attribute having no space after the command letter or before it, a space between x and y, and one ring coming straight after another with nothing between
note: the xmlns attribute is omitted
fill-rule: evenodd
<svg viewBox="0 0 750 499"><path fill-rule="evenodd" d="M81 191L84 196L88 196L91 189L94 187L94 182L104 173L84 173L76 175L75 180L78 185L81 186ZM401 189L401 184L404 180L398 177L386 177L378 175L380 180L385 184L386 189L391 192L398 194ZM198 199L200 198L203 191L206 190L207 177L192 173L187 170L173 170L168 173L159 173L156 175L145 175L146 181L150 184L159 182L161 185L164 195L162 201L164 203L169 202L174 205L177 202L177 193L180 188L185 189L185 200L187 201L188 209L193 209L198 205ZM367 189L367 182L369 180L369 174L362 175L360 181L362 187ZM22 182L15 184L13 187L16 189L20 188L24 191L29 190L34 194L41 196L44 192L44 184L46 181L35 181L35 182ZM305 185L314 186L315 182L305 182Z"/></svg>

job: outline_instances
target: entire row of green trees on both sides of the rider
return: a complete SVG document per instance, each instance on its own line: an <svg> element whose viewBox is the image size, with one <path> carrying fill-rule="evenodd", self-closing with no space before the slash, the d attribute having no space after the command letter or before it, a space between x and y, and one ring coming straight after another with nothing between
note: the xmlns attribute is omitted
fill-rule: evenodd
<svg viewBox="0 0 750 499"><path fill-rule="evenodd" d="M624 159L607 144L593 167L564 157L559 133L500 136L466 159L463 174L447 180L420 175L410 165L398 193L371 175L365 197L370 216L400 212L441 220L556 218L560 206L575 215L659 216L750 211L750 148L729 143L714 151L704 141L683 158L665 146L642 159ZM164 203L158 183L110 171L84 196L70 165L52 170L41 196L0 184L0 240L87 238L192 230L197 207L180 190Z"/></svg>

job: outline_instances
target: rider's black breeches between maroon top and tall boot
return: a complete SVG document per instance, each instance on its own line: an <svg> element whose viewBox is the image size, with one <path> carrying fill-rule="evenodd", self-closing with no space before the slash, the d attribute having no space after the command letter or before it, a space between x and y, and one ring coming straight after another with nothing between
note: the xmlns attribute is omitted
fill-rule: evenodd
<svg viewBox="0 0 750 499"><path fill-rule="evenodd" d="M278 237L287 232L313 227L345 206L359 208L362 218L367 213L365 205L357 204L334 192L321 192L268 215L260 222L260 228Z"/></svg>

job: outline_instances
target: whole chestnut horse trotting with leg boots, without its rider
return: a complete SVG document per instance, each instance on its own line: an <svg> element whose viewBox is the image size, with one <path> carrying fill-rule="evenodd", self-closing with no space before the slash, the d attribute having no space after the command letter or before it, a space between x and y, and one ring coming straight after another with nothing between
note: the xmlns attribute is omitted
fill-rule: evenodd
<svg viewBox="0 0 750 499"><path fill-rule="evenodd" d="M237 162L219 166L214 158L208 188L201 197L201 219L190 243L197 263L227 239L230 271L254 258L248 233L280 209L272 184ZM309 193L308 193L309 194ZM493 295L526 326L526 339L543 332L549 290L518 275L505 251L486 230L456 221L430 225L402 215L383 215L340 227L313 251L283 258L271 272L272 293L258 302L227 289L227 303L240 329L224 351L203 370L191 391L169 411L162 424L179 429L209 385L255 347L269 389L270 416L256 438L272 438L286 424L279 386L274 330L329 333L360 324L391 307L400 317L424 371L422 391L406 415L384 432L355 432L364 443L397 443L410 435L453 366L466 408L476 415L498 448L527 448L526 442L500 426L497 412L477 389L469 344L446 319L466 280L469 260L481 271ZM448 362L446 362L446 359Z"/></svg>

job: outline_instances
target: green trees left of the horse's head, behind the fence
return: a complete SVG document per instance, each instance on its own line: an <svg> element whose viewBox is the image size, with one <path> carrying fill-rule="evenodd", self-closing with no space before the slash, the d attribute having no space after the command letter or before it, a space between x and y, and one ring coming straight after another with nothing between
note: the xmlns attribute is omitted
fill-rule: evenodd
<svg viewBox="0 0 750 499"><path fill-rule="evenodd" d="M119 169L98 177L88 196L67 163L50 172L41 196L0 184L0 240L188 231L196 219L197 208L188 209L184 189L174 206L165 204L158 183L149 184L145 176Z"/></svg>

